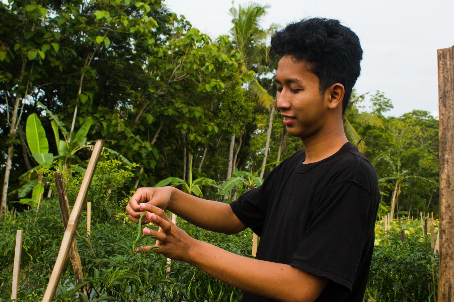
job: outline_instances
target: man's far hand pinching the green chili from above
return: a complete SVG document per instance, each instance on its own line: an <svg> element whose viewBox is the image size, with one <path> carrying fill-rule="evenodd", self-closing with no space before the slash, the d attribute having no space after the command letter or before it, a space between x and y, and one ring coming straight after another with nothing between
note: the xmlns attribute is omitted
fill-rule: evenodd
<svg viewBox="0 0 454 302"><path fill-rule="evenodd" d="M168 207L174 189L174 187L138 188L126 206L126 211L129 214L129 220L135 223L139 222L139 218L143 213L139 204L142 202L165 210ZM142 221L143 224L150 222L151 221L148 219L143 219Z"/></svg>

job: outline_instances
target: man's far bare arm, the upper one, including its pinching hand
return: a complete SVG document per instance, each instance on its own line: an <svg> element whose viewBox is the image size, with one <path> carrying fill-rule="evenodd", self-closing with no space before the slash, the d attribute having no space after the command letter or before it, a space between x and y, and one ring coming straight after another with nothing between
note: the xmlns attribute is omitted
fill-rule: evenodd
<svg viewBox="0 0 454 302"><path fill-rule="evenodd" d="M174 187L139 188L126 207L129 220L138 222L138 217L142 214L139 204L142 202L168 209L205 230L235 234L247 228L229 204L192 196Z"/></svg>

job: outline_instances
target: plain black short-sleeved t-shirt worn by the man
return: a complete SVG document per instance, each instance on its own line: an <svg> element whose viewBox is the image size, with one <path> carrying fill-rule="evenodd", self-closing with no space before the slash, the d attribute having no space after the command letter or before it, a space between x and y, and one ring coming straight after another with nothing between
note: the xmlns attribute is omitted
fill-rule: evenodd
<svg viewBox="0 0 454 302"><path fill-rule="evenodd" d="M380 196L375 168L350 142L319 162L304 160L304 150L284 160L232 211L261 237L256 259L328 278L316 301L361 302ZM245 292L243 301L271 300Z"/></svg>

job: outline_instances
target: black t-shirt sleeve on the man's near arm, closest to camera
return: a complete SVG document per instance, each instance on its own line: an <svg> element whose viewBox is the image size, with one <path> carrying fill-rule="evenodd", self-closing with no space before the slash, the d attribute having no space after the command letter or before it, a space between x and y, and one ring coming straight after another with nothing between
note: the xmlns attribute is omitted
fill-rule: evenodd
<svg viewBox="0 0 454 302"><path fill-rule="evenodd" d="M326 277L350 292L375 221L369 191L348 180L321 193L290 265Z"/></svg>

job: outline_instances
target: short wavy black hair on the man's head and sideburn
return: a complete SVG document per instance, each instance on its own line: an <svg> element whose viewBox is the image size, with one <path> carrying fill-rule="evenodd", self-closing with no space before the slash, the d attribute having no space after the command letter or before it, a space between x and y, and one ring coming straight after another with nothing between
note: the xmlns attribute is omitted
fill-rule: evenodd
<svg viewBox="0 0 454 302"><path fill-rule="evenodd" d="M320 93L335 84L345 87L342 115L350 100L363 58L360 39L336 19L311 18L288 24L271 37L271 58L291 55L305 60L319 78Z"/></svg>

